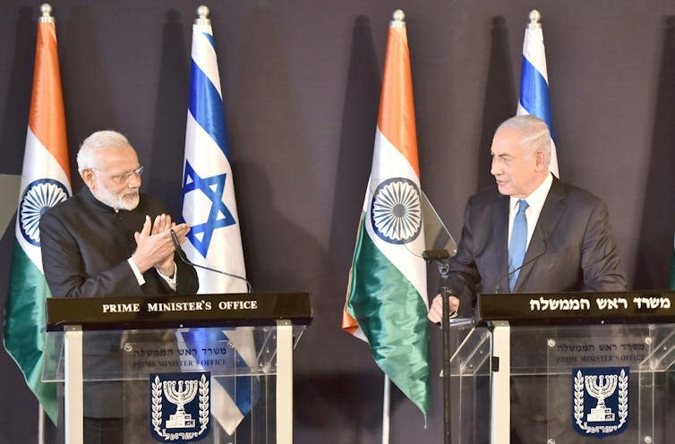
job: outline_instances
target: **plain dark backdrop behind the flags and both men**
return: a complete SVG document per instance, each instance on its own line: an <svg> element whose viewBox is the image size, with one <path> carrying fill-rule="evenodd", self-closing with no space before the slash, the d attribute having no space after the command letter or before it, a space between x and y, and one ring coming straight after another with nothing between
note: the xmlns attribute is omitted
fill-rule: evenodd
<svg viewBox="0 0 675 444"><path fill-rule="evenodd" d="M0 173L20 174L38 3L0 0ZM53 4L71 162L90 132L124 132L143 188L180 208L192 21L185 0ZM339 329L370 171L387 28L406 12L423 188L458 236L491 184L496 124L515 113L527 13L543 14L560 174L607 202L635 288L662 288L673 249L675 4L662 1L218 1L209 4L236 197L257 290L312 291L295 353L296 442L380 440L381 373ZM73 168L74 173L74 168ZM76 177L76 174L73 174ZM79 189L79 178L73 182ZM4 305L13 229L0 242ZM430 286L434 273L430 272ZM431 331L440 383L440 334ZM393 390L392 443L439 442ZM37 403L0 351L0 443L34 442Z"/></svg>

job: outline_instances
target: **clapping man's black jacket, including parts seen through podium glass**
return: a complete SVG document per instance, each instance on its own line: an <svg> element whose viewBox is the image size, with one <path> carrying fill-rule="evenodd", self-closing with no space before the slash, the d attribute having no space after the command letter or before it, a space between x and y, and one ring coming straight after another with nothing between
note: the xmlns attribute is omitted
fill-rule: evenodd
<svg viewBox="0 0 675 444"><path fill-rule="evenodd" d="M133 233L141 231L145 215L166 213L164 206L141 194L136 209L115 212L98 201L88 188L49 209L40 218L42 267L51 294L56 297L114 295L190 295L197 292L197 272L177 257L176 292L156 269L143 273L139 286L127 259L136 249ZM84 337L85 377L118 373L121 334L90 332ZM137 336L135 336L137 337ZM106 376L103 377L106 379ZM143 400L147 403L146 400ZM116 382L85 385L84 415L120 417L123 388Z"/></svg>

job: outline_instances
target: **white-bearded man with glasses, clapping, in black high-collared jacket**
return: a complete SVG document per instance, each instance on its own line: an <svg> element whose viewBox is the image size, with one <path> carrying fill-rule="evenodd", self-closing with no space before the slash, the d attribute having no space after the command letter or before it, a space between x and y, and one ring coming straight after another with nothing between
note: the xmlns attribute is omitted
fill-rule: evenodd
<svg viewBox="0 0 675 444"><path fill-rule="evenodd" d="M84 184L71 199L40 218L42 265L55 297L196 293L196 271L175 259L170 229L181 242L189 227L176 225L158 201L141 194L136 151L118 132L94 132L81 146ZM119 337L117 337L119 339ZM85 338L90 368L119 367L119 340ZM85 442L122 442L122 388L85 386Z"/></svg>

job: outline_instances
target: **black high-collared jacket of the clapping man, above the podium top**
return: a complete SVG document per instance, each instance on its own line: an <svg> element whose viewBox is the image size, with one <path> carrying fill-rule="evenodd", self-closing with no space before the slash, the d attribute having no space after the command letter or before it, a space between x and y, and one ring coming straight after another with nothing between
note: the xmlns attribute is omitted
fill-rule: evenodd
<svg viewBox="0 0 675 444"><path fill-rule="evenodd" d="M126 261L136 249L133 233L145 216L166 213L164 206L141 194L138 207L115 212L98 201L89 188L49 209L40 218L42 267L54 296L165 295L174 293L156 269L138 285ZM197 272L177 257L176 293L193 294Z"/></svg>

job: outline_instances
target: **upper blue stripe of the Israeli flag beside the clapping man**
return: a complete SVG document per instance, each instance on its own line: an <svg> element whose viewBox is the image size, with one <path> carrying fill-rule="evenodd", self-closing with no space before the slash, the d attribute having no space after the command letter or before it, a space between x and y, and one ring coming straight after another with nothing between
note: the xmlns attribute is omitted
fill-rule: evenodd
<svg viewBox="0 0 675 444"><path fill-rule="evenodd" d="M209 77L192 60L192 83L190 85L190 113L201 128L209 133L230 161L227 146L223 100Z"/></svg>

